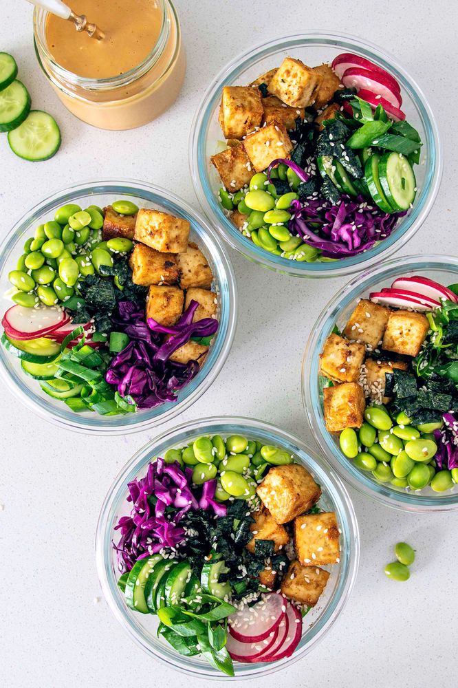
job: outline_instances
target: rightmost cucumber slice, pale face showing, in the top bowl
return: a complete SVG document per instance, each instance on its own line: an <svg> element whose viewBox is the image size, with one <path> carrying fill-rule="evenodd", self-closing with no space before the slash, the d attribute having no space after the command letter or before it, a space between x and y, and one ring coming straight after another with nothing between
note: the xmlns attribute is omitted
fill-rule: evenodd
<svg viewBox="0 0 458 688"><path fill-rule="evenodd" d="M378 168L380 184L394 211L407 211L415 200L417 182L412 165L402 153L384 153Z"/></svg>

